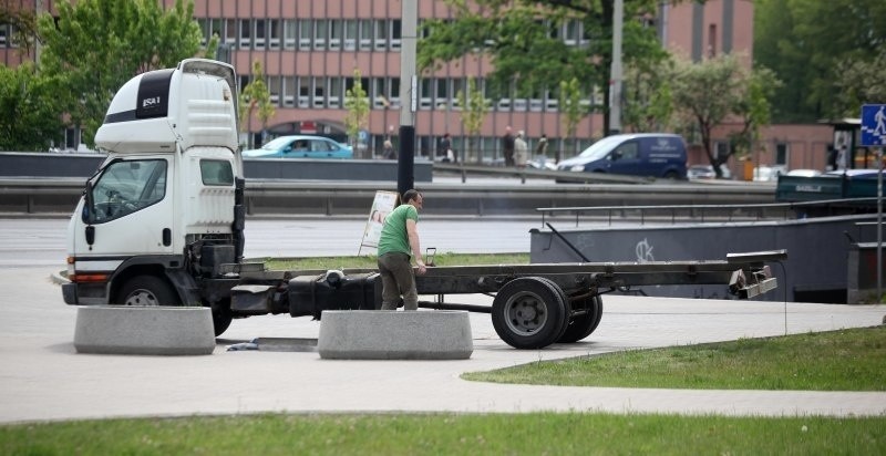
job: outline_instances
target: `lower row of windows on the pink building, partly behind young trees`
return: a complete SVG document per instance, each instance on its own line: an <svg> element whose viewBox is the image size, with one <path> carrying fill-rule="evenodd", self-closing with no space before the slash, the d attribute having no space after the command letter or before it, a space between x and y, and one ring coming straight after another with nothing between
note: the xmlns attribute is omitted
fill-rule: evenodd
<svg viewBox="0 0 886 456"><path fill-rule="evenodd" d="M422 79L419 84L418 108L422 111L461 111L460 92L466 90L467 80L456 79ZM240 76L240 90L249 83L249 77ZM270 101L279 107L301 108L343 108L344 94L354 86L353 77L324 77L324 76L267 76ZM370 100L373 110L401 107L400 77L362 77L360 85ZM475 85L486 96L488 106L493 111L502 112L557 112L559 102L553 91L536 93L533 97L517 97L514 93L504 95L486 90L485 80L477 80ZM595 91L593 96L586 96L583 105L590 107L602 105L602 92Z"/></svg>

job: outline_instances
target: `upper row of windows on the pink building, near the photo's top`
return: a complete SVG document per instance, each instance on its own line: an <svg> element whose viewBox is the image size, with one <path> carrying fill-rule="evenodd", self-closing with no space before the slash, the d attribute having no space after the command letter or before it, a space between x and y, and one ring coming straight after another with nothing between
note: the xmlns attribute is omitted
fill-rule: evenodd
<svg viewBox="0 0 886 456"><path fill-rule="evenodd" d="M199 18L205 46L218 35L227 49L299 51L399 51L400 19L234 19ZM550 27L549 35L567 45L587 45L577 20ZM420 29L424 33L425 29Z"/></svg>

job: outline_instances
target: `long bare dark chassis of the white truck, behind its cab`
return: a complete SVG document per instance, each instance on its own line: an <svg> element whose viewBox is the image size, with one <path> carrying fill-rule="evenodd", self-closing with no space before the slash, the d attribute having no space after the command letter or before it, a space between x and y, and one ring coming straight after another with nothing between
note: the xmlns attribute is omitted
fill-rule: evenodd
<svg viewBox="0 0 886 456"><path fill-rule="evenodd" d="M415 279L419 294L437 297L420 307L491 313L504 342L534 350L590 335L600 323L601 296L607 292L650 284L722 283L732 294L748 299L776 287L765 263L784 258L786 252L776 250L730 253L722 261L429 267ZM225 329L230 318L288 312L320 319L323 310L381 305L381 281L371 269L265 271L262 265L237 263L223 270L236 276L237 283L230 288L230 299L222 301L222 305L229 303L229 311L214 312ZM445 302L449 294L474 293L493 297L492 305Z"/></svg>

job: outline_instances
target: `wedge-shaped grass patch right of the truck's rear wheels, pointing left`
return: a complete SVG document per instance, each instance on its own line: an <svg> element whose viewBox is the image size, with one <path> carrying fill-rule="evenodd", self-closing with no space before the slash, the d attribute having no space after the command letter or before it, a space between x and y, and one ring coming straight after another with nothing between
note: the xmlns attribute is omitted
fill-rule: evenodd
<svg viewBox="0 0 886 456"><path fill-rule="evenodd" d="M462 377L573 386L886 391L886 327L540 361Z"/></svg>

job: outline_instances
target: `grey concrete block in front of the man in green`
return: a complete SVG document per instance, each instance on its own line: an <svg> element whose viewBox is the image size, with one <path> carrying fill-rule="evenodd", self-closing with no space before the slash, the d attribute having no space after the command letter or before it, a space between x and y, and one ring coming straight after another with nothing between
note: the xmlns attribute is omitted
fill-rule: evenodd
<svg viewBox="0 0 886 456"><path fill-rule="evenodd" d="M466 311L327 310L317 351L332 360L466 360L474 341Z"/></svg>

